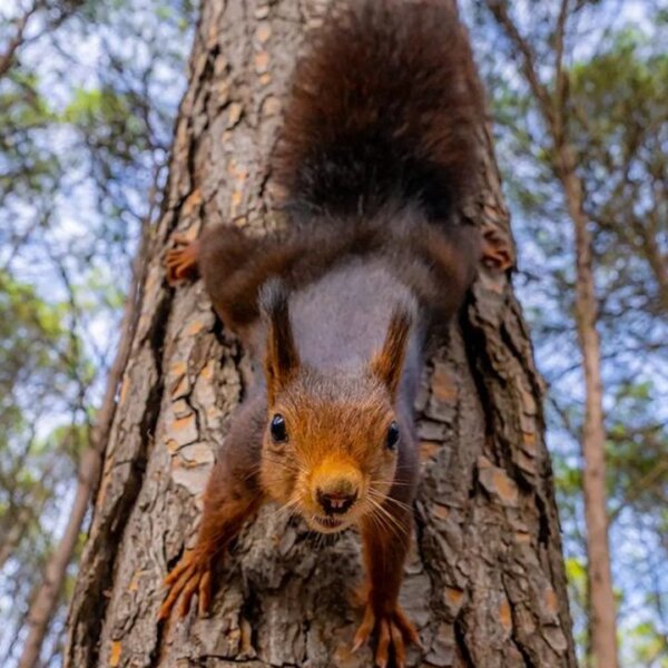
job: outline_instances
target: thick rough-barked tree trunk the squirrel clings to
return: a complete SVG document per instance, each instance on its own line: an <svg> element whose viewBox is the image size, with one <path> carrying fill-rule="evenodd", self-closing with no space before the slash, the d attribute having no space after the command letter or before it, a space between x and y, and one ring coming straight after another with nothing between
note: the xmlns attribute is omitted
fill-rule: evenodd
<svg viewBox="0 0 668 668"><path fill-rule="evenodd" d="M175 229L194 237L203 225L262 232L277 223L267 157L297 47L324 4L203 2L70 611L72 668L371 665L370 649L351 654L358 537L323 540L272 507L226 560L212 615L156 622L161 580L195 539L214 453L247 377L247 358L202 284L169 289L161 256ZM480 140L484 188L466 215L503 244L508 214L489 128ZM541 384L504 273L482 269L428 366L416 410L423 471L402 603L424 649L411 650L410 665L576 666Z"/></svg>

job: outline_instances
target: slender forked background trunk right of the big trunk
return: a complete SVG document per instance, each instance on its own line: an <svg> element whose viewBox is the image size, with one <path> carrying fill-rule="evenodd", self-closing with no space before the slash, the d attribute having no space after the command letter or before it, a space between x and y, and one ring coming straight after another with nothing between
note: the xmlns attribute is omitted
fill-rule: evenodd
<svg viewBox="0 0 668 668"><path fill-rule="evenodd" d="M509 38L519 67L536 98L553 144L553 167L561 181L568 215L576 238L576 325L582 355L586 405L581 448L584 460L582 490L587 523L588 578L590 593L589 628L596 668L617 668L616 607L608 546L606 507L606 428L601 382L600 341L597 332L592 239L583 209L582 183L576 174L573 151L567 140L566 101L568 85L563 73L563 45L570 2L561 0L554 29L553 90L541 82L537 58L509 13L507 0L487 0L490 11Z"/></svg>

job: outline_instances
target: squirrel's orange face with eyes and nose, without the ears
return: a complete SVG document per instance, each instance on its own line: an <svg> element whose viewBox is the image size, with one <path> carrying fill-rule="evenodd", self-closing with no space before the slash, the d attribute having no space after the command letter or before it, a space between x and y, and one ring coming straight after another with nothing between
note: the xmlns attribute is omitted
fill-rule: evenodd
<svg viewBox="0 0 668 668"><path fill-rule="evenodd" d="M263 487L323 533L363 515L383 524L399 448L391 395L370 370L302 369L269 409Z"/></svg>

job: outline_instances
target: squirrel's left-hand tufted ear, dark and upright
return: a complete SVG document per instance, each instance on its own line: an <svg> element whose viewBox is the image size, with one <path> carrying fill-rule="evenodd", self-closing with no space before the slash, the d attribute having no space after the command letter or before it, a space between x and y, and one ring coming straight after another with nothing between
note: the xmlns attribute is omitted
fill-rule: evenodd
<svg viewBox="0 0 668 668"><path fill-rule="evenodd" d="M264 285L259 306L267 326L265 375L269 405L273 405L276 394L299 367L299 355L289 323L287 291L281 281L272 279Z"/></svg>

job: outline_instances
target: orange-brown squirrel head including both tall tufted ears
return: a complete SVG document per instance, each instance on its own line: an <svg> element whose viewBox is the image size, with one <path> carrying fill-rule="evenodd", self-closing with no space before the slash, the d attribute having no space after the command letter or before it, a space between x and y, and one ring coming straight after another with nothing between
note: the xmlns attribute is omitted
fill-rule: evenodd
<svg viewBox="0 0 668 668"><path fill-rule="evenodd" d="M323 533L362 518L392 522L383 508L397 452L409 433L395 410L412 326L399 305L382 348L357 369L321 371L303 364L278 283L263 291L267 324L268 415L261 478L276 501Z"/></svg>

